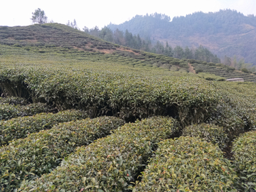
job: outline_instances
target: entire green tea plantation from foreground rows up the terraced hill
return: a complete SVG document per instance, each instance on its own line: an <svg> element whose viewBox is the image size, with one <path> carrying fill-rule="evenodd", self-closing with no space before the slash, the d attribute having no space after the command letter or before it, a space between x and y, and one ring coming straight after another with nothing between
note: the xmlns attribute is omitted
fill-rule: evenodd
<svg viewBox="0 0 256 192"><path fill-rule="evenodd" d="M0 191L256 191L254 79L191 63L0 27Z"/></svg>

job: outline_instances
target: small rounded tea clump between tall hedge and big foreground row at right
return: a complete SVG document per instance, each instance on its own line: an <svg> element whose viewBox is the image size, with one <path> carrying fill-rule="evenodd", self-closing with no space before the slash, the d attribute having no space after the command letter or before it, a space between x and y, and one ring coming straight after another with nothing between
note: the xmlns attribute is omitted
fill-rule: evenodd
<svg viewBox="0 0 256 192"><path fill-rule="evenodd" d="M200 137L201 139L205 139L206 142L218 144L220 149L224 149L230 141L223 127L219 127L215 124L194 124L183 128L182 135L184 137Z"/></svg>

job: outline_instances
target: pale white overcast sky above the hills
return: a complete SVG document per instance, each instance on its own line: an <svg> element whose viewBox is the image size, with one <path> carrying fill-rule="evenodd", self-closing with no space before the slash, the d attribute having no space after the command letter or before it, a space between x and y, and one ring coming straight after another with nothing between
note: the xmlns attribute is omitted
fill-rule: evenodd
<svg viewBox="0 0 256 192"><path fill-rule="evenodd" d="M66 24L75 18L81 29L84 26L102 28L110 22L124 23L137 14L155 12L171 18L220 9L234 9L245 16L256 15L256 0L0 0L0 3L0 26L31 25L32 12L38 8L45 11L48 20L56 23Z"/></svg>

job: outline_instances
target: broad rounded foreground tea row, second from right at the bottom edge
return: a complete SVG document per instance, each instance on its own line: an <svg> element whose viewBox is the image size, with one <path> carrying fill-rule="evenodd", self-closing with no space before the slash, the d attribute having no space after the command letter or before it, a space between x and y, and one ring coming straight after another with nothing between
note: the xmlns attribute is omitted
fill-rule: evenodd
<svg viewBox="0 0 256 192"><path fill-rule="evenodd" d="M237 176L218 146L196 137L160 142L134 191L237 191Z"/></svg>

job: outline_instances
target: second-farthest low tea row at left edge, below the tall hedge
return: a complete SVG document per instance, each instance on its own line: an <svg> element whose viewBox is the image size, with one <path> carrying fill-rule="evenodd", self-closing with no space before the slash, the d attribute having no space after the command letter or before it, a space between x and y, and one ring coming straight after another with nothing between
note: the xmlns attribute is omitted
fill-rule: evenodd
<svg viewBox="0 0 256 192"><path fill-rule="evenodd" d="M0 105L0 120L8 120L14 117L31 116L41 112L47 112L46 103L32 103L30 105Z"/></svg>

